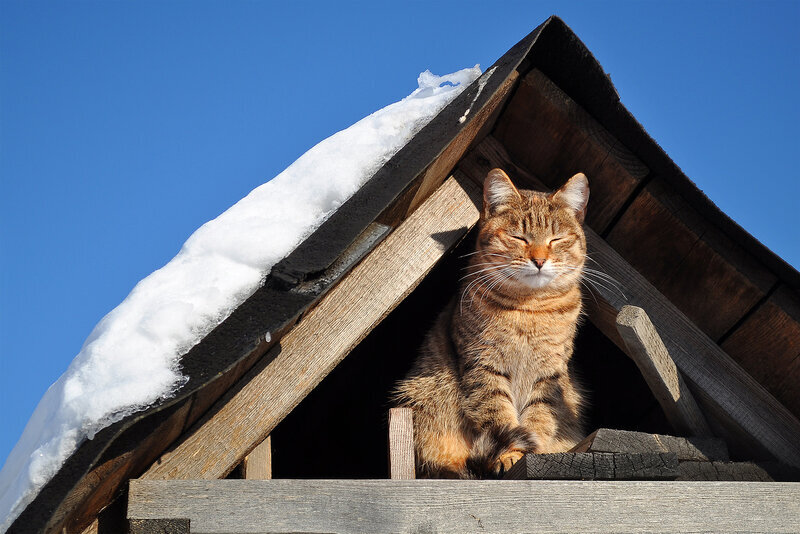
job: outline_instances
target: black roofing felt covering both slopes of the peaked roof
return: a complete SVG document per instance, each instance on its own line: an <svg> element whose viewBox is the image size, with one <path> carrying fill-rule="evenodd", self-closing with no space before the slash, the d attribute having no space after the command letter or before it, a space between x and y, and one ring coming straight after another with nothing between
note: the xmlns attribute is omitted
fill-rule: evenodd
<svg viewBox="0 0 800 534"><path fill-rule="evenodd" d="M473 107L485 105L514 70L522 76L532 68L541 70L652 172L668 180L702 215L750 254L756 255L787 285L800 289L800 274L722 213L650 138L619 102L600 64L559 18L548 19L493 67L496 71ZM152 435L153 429L190 402L194 393L220 375L231 373L263 343L266 332L280 331L320 298L335 283L335 279L325 275L337 258L467 125L469 121L460 124L458 118L477 92L477 83L473 83L461 93L316 232L275 265L261 289L184 356L183 373L189 381L175 397L109 426L93 440L82 444L12 524L9 532L41 532L56 527L64 519L65 508L72 505L63 507L57 517L54 514L78 481L98 465L134 450ZM477 115L473 113L472 117ZM298 285L315 279L321 282L304 284L315 287L313 292L296 290ZM236 372L241 374L241 368ZM163 449L167 445L162 443L160 447ZM152 452L157 458L161 451ZM138 475L137 472L127 474Z"/></svg>

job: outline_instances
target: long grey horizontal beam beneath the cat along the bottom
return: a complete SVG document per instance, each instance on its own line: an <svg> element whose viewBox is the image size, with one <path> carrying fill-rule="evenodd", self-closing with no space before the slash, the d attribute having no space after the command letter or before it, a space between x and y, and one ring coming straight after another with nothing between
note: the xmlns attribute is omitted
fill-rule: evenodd
<svg viewBox="0 0 800 534"><path fill-rule="evenodd" d="M131 520L193 533L788 532L800 483L132 480Z"/></svg>

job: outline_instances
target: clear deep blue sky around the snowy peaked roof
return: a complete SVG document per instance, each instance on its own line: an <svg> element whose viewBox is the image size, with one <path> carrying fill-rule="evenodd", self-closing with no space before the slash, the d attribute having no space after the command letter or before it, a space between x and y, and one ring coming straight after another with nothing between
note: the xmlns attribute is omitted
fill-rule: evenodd
<svg viewBox="0 0 800 534"><path fill-rule="evenodd" d="M0 462L92 327L305 150L549 15L796 268L799 2L0 2Z"/></svg>

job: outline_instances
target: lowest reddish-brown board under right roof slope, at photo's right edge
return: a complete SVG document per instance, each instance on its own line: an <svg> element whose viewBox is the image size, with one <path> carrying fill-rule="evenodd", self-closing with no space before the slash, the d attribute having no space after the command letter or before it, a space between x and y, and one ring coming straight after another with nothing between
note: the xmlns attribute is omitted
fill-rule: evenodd
<svg viewBox="0 0 800 534"><path fill-rule="evenodd" d="M722 348L800 416L800 297L778 289L722 342ZM765 365L769 362L769 365Z"/></svg>

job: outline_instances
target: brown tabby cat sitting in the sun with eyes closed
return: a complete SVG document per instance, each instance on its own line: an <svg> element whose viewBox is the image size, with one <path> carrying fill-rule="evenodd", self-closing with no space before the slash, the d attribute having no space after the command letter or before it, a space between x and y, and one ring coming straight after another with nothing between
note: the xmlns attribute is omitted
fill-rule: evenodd
<svg viewBox="0 0 800 534"><path fill-rule="evenodd" d="M569 368L586 260L582 173L546 194L501 169L484 182L477 245L395 403L413 408L417 476L490 478L581 439Z"/></svg>

